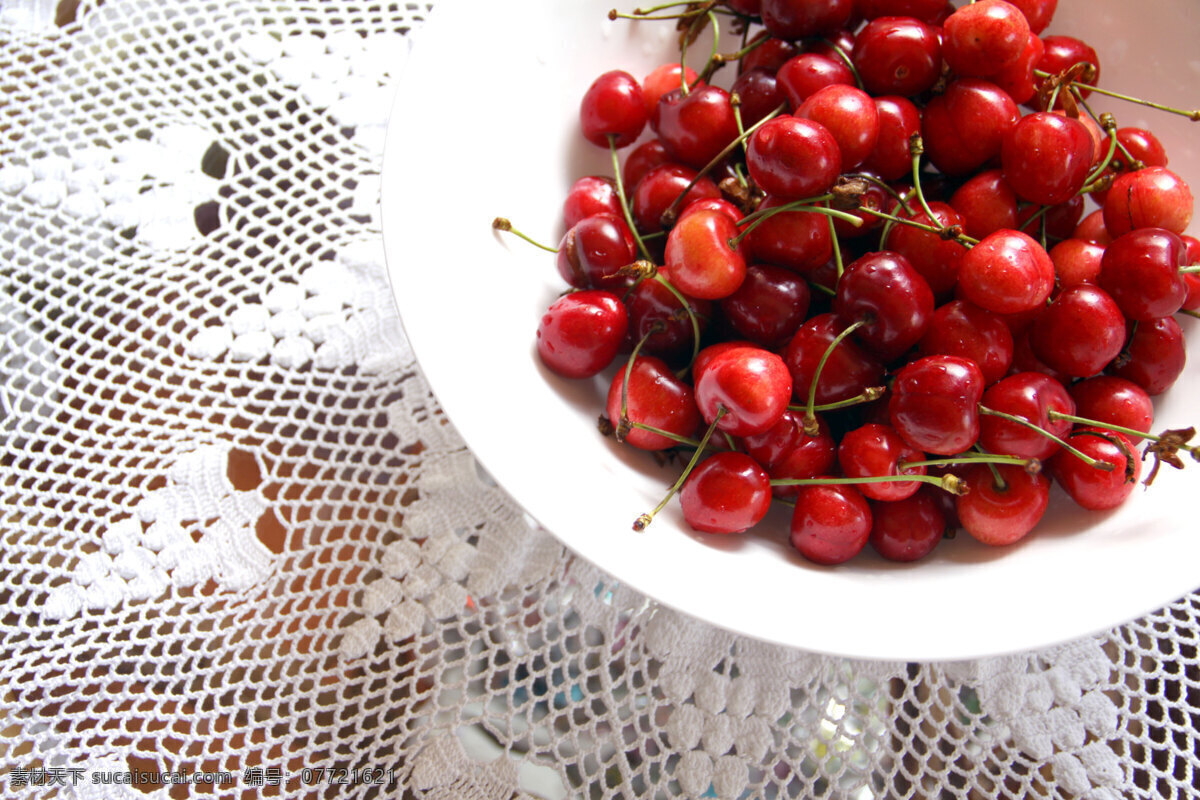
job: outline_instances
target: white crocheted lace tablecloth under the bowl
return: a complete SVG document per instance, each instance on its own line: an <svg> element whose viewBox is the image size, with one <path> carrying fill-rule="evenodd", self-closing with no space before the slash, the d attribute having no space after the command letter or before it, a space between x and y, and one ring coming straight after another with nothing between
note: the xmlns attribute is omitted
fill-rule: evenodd
<svg viewBox="0 0 1200 800"><path fill-rule="evenodd" d="M1194 597L857 663L527 524L384 271L427 11L0 0L4 796L1193 796Z"/></svg>

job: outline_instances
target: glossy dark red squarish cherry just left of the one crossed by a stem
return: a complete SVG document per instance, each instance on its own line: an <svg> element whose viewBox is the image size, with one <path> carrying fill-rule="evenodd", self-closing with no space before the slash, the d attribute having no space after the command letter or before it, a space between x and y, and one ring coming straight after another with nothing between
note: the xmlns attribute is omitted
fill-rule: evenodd
<svg viewBox="0 0 1200 800"><path fill-rule="evenodd" d="M973 361L928 355L905 365L892 384L888 417L905 441L953 456L979 438L983 373Z"/></svg>

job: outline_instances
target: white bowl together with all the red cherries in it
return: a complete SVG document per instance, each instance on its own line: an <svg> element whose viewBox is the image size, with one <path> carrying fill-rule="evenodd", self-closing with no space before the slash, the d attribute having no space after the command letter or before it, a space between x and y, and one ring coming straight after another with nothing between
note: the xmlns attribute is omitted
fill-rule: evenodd
<svg viewBox="0 0 1200 800"><path fill-rule="evenodd" d="M1187 4L439 4L383 173L418 362L533 519L738 633L965 658L1186 595Z"/></svg>

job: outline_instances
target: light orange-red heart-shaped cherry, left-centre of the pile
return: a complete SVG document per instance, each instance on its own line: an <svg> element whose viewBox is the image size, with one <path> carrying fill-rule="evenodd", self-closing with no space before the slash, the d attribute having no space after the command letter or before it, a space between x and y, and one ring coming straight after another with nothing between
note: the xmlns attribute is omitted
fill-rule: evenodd
<svg viewBox="0 0 1200 800"><path fill-rule="evenodd" d="M666 265L680 291L701 300L733 294L745 279L746 261L730 247L737 223L720 211L701 210L680 218L667 235Z"/></svg>

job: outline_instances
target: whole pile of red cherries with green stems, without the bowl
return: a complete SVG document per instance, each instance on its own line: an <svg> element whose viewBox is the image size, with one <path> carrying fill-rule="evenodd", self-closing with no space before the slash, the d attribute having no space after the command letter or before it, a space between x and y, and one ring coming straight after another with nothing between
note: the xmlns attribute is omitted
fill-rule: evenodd
<svg viewBox="0 0 1200 800"><path fill-rule="evenodd" d="M1147 457L1150 477L1198 458L1190 429L1150 433L1184 366L1175 315L1200 308L1192 193L1152 132L1092 110L1099 58L1042 35L1055 5L628 14L674 20L683 53L709 29L713 54L584 94L613 174L563 204L570 288L538 353L613 368L601 428L686 461L664 505L695 530L781 501L812 561L914 560L956 528L1022 539L1051 482L1112 509Z"/></svg>

